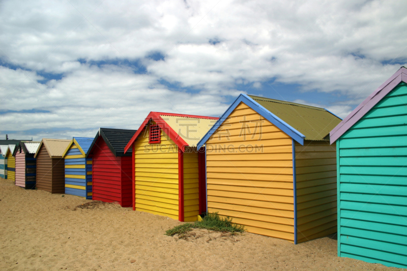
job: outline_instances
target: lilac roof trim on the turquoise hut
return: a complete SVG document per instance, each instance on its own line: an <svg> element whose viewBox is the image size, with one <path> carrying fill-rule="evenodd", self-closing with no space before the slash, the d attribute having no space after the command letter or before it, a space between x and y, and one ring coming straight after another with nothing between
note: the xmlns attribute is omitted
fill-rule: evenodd
<svg viewBox="0 0 407 271"><path fill-rule="evenodd" d="M342 122L340 122L331 132L331 144L335 142L348 129L354 126L370 109L379 103L387 94L389 94L399 83L407 83L407 69L401 67L395 74L386 80L381 86L370 94L358 107L356 107Z"/></svg>

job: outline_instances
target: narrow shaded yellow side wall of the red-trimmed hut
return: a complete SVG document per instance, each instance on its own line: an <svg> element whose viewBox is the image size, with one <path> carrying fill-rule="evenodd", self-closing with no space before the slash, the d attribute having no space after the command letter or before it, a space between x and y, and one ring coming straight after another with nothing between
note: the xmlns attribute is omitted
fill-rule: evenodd
<svg viewBox="0 0 407 271"><path fill-rule="evenodd" d="M184 153L184 221L196 221L199 214L198 154Z"/></svg>

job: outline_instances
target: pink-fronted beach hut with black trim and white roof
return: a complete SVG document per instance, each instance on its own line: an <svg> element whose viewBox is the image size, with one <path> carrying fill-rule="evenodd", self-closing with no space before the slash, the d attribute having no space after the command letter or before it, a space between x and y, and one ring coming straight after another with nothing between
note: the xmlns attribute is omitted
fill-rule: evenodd
<svg viewBox="0 0 407 271"><path fill-rule="evenodd" d="M14 149L15 185L25 189L36 187L36 159L34 158L40 142L20 141Z"/></svg>

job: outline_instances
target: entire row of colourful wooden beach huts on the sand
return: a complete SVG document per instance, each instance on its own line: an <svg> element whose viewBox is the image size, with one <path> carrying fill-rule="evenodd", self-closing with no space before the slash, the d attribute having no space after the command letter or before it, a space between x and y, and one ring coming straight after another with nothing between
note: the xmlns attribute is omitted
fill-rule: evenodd
<svg viewBox="0 0 407 271"><path fill-rule="evenodd" d="M241 94L220 117L151 112L138 130L0 140L25 189L195 221L218 212L299 244L337 232L338 256L407 267L407 69L343 120Z"/></svg>

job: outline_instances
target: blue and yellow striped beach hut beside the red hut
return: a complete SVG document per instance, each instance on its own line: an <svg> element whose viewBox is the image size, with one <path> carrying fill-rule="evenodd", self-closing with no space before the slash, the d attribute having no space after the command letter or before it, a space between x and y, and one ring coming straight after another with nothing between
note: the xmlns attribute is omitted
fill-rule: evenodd
<svg viewBox="0 0 407 271"><path fill-rule="evenodd" d="M65 149L65 194L92 199L92 158L86 158L92 141L74 137Z"/></svg>

